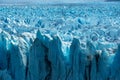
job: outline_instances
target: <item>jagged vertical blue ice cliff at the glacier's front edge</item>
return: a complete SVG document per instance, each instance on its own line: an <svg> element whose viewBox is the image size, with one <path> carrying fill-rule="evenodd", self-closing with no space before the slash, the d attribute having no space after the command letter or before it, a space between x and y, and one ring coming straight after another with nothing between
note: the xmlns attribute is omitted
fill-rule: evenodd
<svg viewBox="0 0 120 80"><path fill-rule="evenodd" d="M17 44L7 39L0 37L1 80L119 80L119 46L109 53L90 41L83 48L74 38L67 58L59 36L49 38L38 31L31 47L24 40Z"/></svg>

